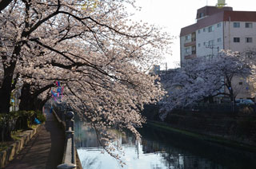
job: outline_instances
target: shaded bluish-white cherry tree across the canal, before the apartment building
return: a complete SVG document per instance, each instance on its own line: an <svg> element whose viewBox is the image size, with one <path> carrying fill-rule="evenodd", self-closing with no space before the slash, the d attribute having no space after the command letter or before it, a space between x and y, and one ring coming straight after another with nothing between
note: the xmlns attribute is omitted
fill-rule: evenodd
<svg viewBox="0 0 256 169"><path fill-rule="evenodd" d="M188 60L181 71L162 81L168 91L163 108L170 111L177 106L186 107L220 95L229 96L234 101L242 89L234 78L249 77L252 74L251 63L246 56L231 51L222 51L210 60L204 57Z"/></svg>

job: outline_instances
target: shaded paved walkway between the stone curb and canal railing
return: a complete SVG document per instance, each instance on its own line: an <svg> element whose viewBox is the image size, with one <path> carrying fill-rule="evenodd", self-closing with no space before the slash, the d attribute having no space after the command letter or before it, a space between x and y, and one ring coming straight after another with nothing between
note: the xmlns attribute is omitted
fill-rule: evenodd
<svg viewBox="0 0 256 169"><path fill-rule="evenodd" d="M62 163L64 132L49 109L45 112L46 123L6 169L56 169Z"/></svg>

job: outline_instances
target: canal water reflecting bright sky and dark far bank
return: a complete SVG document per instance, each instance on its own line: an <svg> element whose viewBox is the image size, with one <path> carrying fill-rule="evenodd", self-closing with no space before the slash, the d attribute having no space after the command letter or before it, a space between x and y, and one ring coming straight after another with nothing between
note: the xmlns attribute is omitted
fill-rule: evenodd
<svg viewBox="0 0 256 169"><path fill-rule="evenodd" d="M115 131L113 131L115 132ZM94 130L82 123L75 125L75 141L83 169L255 169L254 152L224 147L165 132L150 125L139 129L140 142L129 132L118 135L125 155L124 167L108 155L102 154Z"/></svg>

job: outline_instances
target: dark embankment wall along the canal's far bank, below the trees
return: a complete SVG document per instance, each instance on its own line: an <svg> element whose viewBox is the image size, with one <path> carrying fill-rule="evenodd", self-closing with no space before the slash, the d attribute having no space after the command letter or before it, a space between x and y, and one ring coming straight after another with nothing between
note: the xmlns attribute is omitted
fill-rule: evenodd
<svg viewBox="0 0 256 169"><path fill-rule="evenodd" d="M156 108L143 112L148 120L161 121ZM194 111L170 112L164 121L170 127L208 136L219 136L238 143L256 146L255 113L203 113Z"/></svg>

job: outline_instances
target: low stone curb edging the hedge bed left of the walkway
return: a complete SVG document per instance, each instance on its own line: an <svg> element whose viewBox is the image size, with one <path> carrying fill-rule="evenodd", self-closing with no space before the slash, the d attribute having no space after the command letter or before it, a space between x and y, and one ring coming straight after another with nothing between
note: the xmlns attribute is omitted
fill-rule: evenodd
<svg viewBox="0 0 256 169"><path fill-rule="evenodd" d="M12 143L6 150L0 152L0 168L3 168L8 164L11 160L14 159L15 155L18 154L19 151L28 143L31 138L38 132L39 127L42 124L38 125L37 128L33 130L27 130L22 132L22 138L17 140L15 143Z"/></svg>

